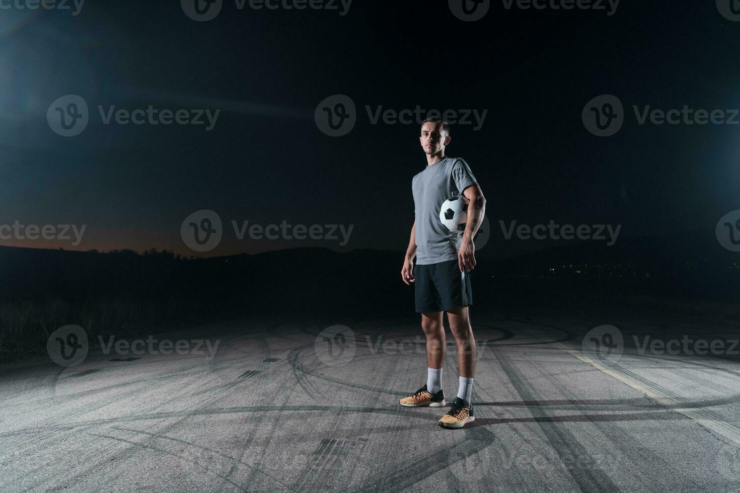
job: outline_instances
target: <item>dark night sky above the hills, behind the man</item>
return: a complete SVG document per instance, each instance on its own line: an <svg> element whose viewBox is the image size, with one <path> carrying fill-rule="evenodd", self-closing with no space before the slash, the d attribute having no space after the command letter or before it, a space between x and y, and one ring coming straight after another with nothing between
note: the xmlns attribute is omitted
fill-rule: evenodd
<svg viewBox="0 0 740 493"><path fill-rule="evenodd" d="M17 1L17 0L13 0ZM729 1L729 0L728 0ZM196 22L180 2L93 1L0 10L0 224L87 225L84 240L0 245L193 255L181 223L224 223L203 256L279 248L404 251L419 127L371 124L383 109L488 110L452 126L448 155L471 166L499 220L621 224L622 235L712 231L740 208L740 125L639 125L642 109L740 108L740 22L712 0L622 0L607 10L507 10L461 21L447 1L354 0L338 10L238 10ZM343 8L337 2L340 10ZM61 137L47 109L80 95L90 123ZM323 99L348 95L349 134L317 128ZM591 135L585 104L616 95L625 123ZM104 125L116 109L220 109L215 127ZM728 112L729 115L729 112ZM740 116L736 117L740 122ZM230 222L354 225L337 241L237 241ZM530 242L530 248L541 245ZM517 248L496 242L483 256ZM400 259L399 259L400 262Z"/></svg>

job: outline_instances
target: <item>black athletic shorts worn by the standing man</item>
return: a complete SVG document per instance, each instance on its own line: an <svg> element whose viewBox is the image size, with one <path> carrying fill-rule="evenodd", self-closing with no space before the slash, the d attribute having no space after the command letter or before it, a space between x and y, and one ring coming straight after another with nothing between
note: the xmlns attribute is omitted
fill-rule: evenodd
<svg viewBox="0 0 740 493"><path fill-rule="evenodd" d="M417 313L452 310L473 305L470 273L457 259L438 264L414 265L414 296Z"/></svg>

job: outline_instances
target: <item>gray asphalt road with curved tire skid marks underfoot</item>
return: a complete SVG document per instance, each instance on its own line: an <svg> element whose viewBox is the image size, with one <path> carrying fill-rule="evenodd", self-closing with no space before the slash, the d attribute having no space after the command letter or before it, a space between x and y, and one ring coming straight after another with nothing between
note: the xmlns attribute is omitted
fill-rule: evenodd
<svg viewBox="0 0 740 493"><path fill-rule="evenodd" d="M477 421L459 430L397 404L425 383L418 323L276 316L4 364L0 490L740 491L737 323L474 311ZM454 355L448 337L448 400Z"/></svg>

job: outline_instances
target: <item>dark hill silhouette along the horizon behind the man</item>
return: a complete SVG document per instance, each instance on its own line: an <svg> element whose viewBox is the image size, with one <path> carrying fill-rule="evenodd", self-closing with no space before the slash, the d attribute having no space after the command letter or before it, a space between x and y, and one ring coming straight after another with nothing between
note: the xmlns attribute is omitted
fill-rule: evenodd
<svg viewBox="0 0 740 493"><path fill-rule="evenodd" d="M337 318L414 314L400 279L402 251L294 248L183 259L166 251L110 253L0 247L0 340L45 344L79 324L95 333L152 330L255 313ZM740 299L740 254L711 234L579 242L511 259L480 258L471 275L477 310L579 297Z"/></svg>

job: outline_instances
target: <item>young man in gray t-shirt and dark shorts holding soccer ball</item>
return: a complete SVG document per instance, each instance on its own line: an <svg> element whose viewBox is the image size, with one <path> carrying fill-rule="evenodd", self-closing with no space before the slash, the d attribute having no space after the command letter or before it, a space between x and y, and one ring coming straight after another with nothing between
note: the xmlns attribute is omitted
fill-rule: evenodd
<svg viewBox="0 0 740 493"><path fill-rule="evenodd" d="M475 421L471 395L476 351L468 307L473 304L470 272L476 265L473 238L485 214L485 197L468 164L459 157L445 155L445 147L450 143L447 122L427 118L419 140L427 165L411 181L416 219L401 278L407 285L414 284L416 311L421 313L421 327L426 335L427 380L424 387L401 399L400 404L406 407L445 405L442 391L445 329L442 321L443 312L446 312L457 342L460 387L449 412L437 424L444 428L462 428ZM470 200L462 236L451 233L440 221L442 204L456 194Z"/></svg>

